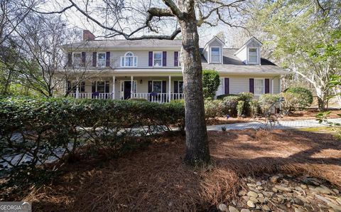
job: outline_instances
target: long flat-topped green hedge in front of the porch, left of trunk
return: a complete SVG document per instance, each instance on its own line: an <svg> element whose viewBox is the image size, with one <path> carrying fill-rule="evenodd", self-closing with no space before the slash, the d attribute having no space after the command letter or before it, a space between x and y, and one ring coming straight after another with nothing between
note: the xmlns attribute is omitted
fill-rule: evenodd
<svg viewBox="0 0 341 212"><path fill-rule="evenodd" d="M81 147L92 152L107 149L117 156L129 149L131 140L146 140L171 130L171 125L183 129L184 117L178 102L3 97L0 176L10 177L0 188L20 188L42 179L44 169L38 165L72 159Z"/></svg>

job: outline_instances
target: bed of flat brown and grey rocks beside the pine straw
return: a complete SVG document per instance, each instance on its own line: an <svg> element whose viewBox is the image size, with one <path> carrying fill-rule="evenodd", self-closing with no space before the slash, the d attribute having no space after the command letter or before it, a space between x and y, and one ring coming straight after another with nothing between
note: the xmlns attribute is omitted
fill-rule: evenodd
<svg viewBox="0 0 341 212"><path fill-rule="evenodd" d="M327 181L312 176L265 174L242 179L238 198L220 211L341 211L341 194Z"/></svg>

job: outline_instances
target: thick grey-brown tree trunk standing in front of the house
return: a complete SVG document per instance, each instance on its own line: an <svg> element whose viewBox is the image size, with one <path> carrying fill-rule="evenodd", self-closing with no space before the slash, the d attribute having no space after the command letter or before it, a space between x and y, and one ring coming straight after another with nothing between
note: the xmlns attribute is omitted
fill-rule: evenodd
<svg viewBox="0 0 341 212"><path fill-rule="evenodd" d="M202 66L199 50L199 36L194 10L187 14L186 21L180 21L183 46L181 65L185 90L185 163L191 166L205 166L210 163L207 142L204 99L202 95Z"/></svg>

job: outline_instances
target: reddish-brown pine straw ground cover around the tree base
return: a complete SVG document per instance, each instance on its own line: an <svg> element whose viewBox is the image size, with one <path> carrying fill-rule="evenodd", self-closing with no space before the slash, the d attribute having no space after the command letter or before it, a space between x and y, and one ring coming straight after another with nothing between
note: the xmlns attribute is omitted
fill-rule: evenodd
<svg viewBox="0 0 341 212"><path fill-rule="evenodd" d="M184 137L168 134L119 159L68 164L25 200L34 211L213 211L247 175L310 174L341 186L341 142L330 134L247 129L209 132L209 140L207 169L185 166Z"/></svg>

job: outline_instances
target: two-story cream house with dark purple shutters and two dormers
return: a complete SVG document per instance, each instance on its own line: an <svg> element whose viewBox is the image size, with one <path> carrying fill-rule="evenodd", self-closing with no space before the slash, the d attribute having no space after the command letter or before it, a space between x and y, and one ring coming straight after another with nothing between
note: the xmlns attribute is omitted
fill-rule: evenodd
<svg viewBox="0 0 341 212"><path fill-rule="evenodd" d="M224 48L224 43L214 37L200 49L202 68L220 73L217 95L281 92L280 78L287 72L261 58L261 46L252 37L242 48ZM67 44L63 50L75 79L77 73L89 77L76 86L68 81L67 89L79 98L145 98L155 102L181 99L180 48L181 40L94 40L90 31L84 31L82 42Z"/></svg>

